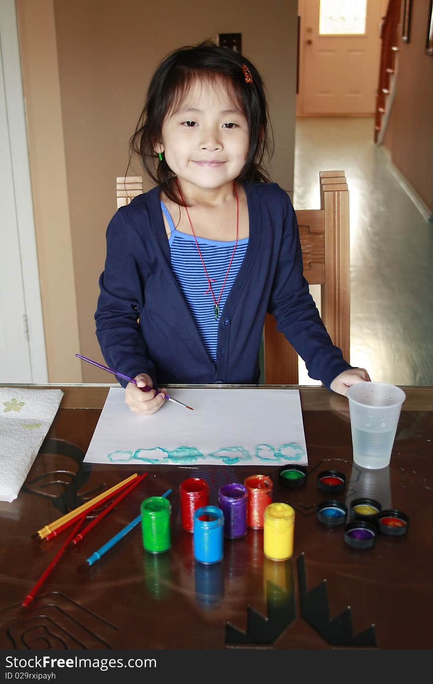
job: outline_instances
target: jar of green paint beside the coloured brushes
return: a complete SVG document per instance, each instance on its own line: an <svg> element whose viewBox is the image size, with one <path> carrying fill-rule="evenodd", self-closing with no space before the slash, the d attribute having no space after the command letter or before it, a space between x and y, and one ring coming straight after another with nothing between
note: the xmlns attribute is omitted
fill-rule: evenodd
<svg viewBox="0 0 433 684"><path fill-rule="evenodd" d="M149 553L163 553L170 549L171 511L170 501L163 497L150 497L140 506L143 546Z"/></svg>

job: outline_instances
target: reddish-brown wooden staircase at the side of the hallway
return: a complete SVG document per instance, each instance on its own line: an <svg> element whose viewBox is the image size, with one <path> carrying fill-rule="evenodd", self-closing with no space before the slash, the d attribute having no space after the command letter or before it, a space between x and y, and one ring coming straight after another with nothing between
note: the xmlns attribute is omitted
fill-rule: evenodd
<svg viewBox="0 0 433 684"><path fill-rule="evenodd" d="M374 142L378 144L384 139L395 95L400 5L401 0L389 0L386 16L380 27L380 68L374 118Z"/></svg>

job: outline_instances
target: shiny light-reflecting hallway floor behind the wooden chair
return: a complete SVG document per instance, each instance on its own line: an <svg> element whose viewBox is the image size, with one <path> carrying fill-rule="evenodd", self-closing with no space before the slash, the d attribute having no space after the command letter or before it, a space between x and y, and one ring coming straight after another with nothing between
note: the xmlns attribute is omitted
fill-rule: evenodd
<svg viewBox="0 0 433 684"><path fill-rule="evenodd" d="M296 209L320 206L322 170L344 170L350 192L350 362L377 382L433 385L433 224L373 143L371 118L297 119Z"/></svg>

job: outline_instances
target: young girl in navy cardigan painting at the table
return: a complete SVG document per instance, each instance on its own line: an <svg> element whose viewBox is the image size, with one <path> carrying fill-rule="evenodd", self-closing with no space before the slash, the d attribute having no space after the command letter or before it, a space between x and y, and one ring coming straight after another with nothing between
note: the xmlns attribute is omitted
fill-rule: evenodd
<svg viewBox="0 0 433 684"><path fill-rule="evenodd" d="M266 311L335 392L369 380L332 345L302 275L296 215L261 166L268 113L254 65L212 42L159 64L131 151L156 187L114 215L99 280L96 334L108 365L147 384L259 381Z"/></svg>

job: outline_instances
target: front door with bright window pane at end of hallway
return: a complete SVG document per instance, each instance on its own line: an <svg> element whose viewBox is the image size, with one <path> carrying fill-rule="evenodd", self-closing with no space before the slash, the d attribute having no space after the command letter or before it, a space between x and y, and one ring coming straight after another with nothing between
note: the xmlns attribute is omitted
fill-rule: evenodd
<svg viewBox="0 0 433 684"><path fill-rule="evenodd" d="M300 114L373 114L383 5L381 0L300 4Z"/></svg>

